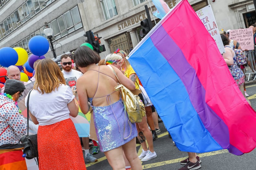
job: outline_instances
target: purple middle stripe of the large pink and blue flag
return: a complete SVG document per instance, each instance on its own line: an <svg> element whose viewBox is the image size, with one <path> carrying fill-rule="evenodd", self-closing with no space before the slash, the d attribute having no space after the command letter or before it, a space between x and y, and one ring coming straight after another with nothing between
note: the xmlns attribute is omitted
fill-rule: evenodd
<svg viewBox="0 0 256 170"><path fill-rule="evenodd" d="M190 101L205 128L222 148L229 148L229 129L223 120L219 118L219 116L205 102L206 91L199 81L194 68L187 62L181 49L166 33L163 26L160 26L150 38L158 51L165 57L184 83ZM169 46L167 49L166 44ZM197 129L197 127L192 128L195 130Z"/></svg>

